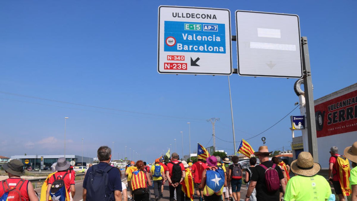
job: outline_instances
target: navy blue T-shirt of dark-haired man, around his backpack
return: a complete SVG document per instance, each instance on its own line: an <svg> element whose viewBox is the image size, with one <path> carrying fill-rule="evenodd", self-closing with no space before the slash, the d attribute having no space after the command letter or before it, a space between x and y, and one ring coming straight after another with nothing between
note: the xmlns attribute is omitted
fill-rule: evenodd
<svg viewBox="0 0 357 201"><path fill-rule="evenodd" d="M106 162L100 162L97 165L93 165L93 166L98 166L99 169L104 170L107 166L109 166L109 164ZM88 179L89 173L93 171L93 166L88 168L87 170L86 176L84 177L83 180L83 188L86 188L86 180ZM107 185L108 195L110 195L111 192L113 191L122 191L120 172L117 168L113 167L111 168L111 170L108 171L108 178L109 178L108 185ZM114 193L112 194L109 200L115 200Z"/></svg>

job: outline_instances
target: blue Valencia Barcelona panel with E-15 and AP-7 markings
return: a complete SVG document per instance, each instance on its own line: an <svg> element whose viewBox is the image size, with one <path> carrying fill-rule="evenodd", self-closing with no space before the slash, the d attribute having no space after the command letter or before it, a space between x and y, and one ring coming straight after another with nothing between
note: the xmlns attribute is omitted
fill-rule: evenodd
<svg viewBox="0 0 357 201"><path fill-rule="evenodd" d="M165 52L226 53L225 24L165 21Z"/></svg>

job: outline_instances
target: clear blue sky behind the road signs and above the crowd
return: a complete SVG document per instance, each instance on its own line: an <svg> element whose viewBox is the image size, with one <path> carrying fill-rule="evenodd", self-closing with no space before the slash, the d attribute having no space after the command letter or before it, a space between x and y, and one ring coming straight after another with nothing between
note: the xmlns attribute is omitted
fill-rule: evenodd
<svg viewBox="0 0 357 201"><path fill-rule="evenodd" d="M67 154L94 157L101 145L122 158L127 146L152 161L162 150L188 154L216 136L232 140L227 76L157 73L160 5L297 14L307 36L314 99L356 83L356 1L1 1L0 155ZM237 68L232 42L233 68ZM230 76L236 141L248 139L292 111L296 79ZM67 102L67 103L65 103ZM75 104L70 104L75 103ZM95 107L89 107L95 106ZM299 115L297 109L292 115ZM261 137L270 150L290 146L290 118ZM233 143L216 138L219 149ZM237 143L238 146L239 142ZM290 147L288 147L290 148ZM132 156L132 154L131 154Z"/></svg>

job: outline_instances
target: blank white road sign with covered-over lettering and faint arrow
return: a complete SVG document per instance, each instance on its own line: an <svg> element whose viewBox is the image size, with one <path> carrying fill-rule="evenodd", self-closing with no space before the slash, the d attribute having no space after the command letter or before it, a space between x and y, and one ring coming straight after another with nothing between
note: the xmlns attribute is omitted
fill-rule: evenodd
<svg viewBox="0 0 357 201"><path fill-rule="evenodd" d="M302 78L299 17L236 11L238 74Z"/></svg>

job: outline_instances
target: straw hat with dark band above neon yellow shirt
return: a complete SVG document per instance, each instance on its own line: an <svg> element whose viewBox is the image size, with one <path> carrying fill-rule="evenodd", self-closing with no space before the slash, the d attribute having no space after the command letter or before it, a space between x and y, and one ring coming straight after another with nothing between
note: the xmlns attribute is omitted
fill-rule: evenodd
<svg viewBox="0 0 357 201"><path fill-rule="evenodd" d="M310 152L301 152L296 160L291 162L291 171L296 175L312 177L321 170L320 164L313 162Z"/></svg>

